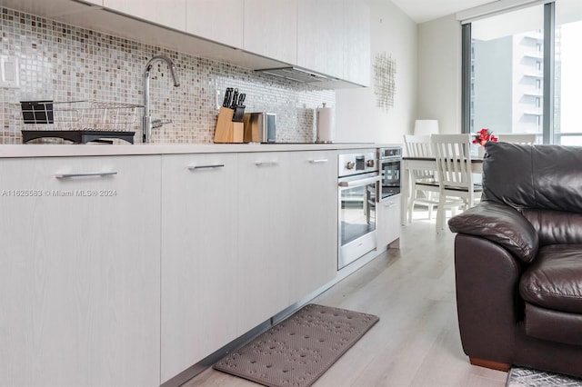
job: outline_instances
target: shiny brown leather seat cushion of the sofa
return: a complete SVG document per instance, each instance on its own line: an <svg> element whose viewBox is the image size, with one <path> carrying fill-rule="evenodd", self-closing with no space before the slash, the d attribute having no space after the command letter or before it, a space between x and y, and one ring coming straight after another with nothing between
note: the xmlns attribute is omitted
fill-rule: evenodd
<svg viewBox="0 0 582 387"><path fill-rule="evenodd" d="M519 293L527 303L582 313L582 244L540 247L519 281Z"/></svg>

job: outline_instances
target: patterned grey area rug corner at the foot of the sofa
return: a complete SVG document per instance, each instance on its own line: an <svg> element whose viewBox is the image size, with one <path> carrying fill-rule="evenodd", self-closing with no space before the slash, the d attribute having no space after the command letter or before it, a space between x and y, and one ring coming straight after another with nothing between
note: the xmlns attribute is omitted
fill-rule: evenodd
<svg viewBox="0 0 582 387"><path fill-rule="evenodd" d="M559 373L511 367L507 373L506 387L582 387L582 379Z"/></svg>

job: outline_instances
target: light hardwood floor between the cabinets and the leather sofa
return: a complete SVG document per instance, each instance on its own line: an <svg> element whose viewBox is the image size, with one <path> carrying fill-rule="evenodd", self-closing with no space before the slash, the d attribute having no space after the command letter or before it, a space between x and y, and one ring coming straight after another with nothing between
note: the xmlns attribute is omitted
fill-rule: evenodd
<svg viewBox="0 0 582 387"><path fill-rule="evenodd" d="M389 250L313 300L380 317L314 387L505 386L506 372L470 365L461 349L454 236L448 229L437 235L434 220L416 220L403 227L400 250ZM208 369L184 387L256 385Z"/></svg>

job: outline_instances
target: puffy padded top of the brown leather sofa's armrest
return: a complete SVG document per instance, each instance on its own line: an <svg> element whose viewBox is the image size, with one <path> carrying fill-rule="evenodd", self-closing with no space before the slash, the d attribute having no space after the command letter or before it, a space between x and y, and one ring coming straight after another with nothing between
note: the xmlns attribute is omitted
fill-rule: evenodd
<svg viewBox="0 0 582 387"><path fill-rule="evenodd" d="M467 233L500 244L521 262L530 263L537 254L539 239L534 226L507 204L481 202L452 217L453 233Z"/></svg>

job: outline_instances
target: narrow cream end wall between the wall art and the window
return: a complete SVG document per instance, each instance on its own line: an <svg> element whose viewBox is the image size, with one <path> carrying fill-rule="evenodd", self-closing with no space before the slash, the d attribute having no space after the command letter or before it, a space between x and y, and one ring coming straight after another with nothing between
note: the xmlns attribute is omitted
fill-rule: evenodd
<svg viewBox="0 0 582 387"><path fill-rule="evenodd" d="M418 25L417 117L461 133L461 25L455 15Z"/></svg>

